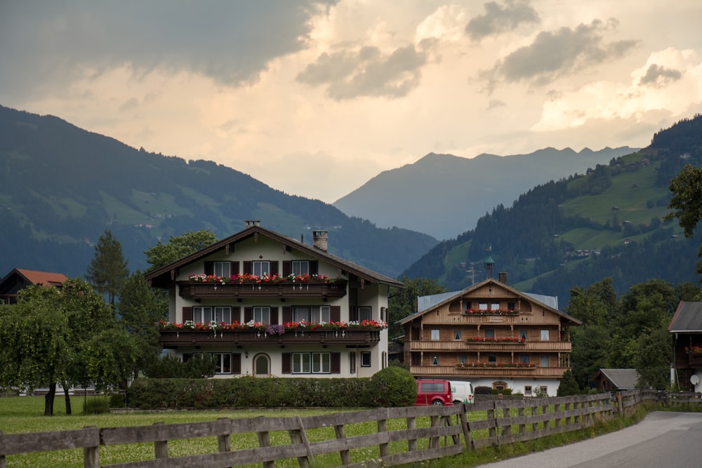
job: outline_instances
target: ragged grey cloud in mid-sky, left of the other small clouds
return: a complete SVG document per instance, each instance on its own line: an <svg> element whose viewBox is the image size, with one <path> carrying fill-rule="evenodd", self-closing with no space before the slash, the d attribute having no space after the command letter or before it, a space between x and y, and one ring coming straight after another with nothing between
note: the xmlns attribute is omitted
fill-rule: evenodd
<svg viewBox="0 0 702 468"><path fill-rule="evenodd" d="M421 46L421 45L420 45ZM334 100L375 96L401 98L419 85L423 49L409 45L385 54L374 46L357 51L322 53L297 76L300 83L326 86Z"/></svg>

